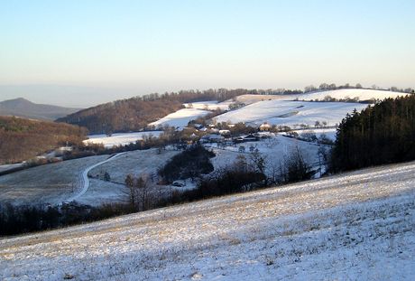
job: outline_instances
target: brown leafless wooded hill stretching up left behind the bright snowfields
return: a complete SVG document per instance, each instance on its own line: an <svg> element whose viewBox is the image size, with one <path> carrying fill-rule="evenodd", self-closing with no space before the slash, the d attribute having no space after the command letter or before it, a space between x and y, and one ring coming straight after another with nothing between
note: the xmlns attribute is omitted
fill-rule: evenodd
<svg viewBox="0 0 415 281"><path fill-rule="evenodd" d="M154 93L118 99L97 107L80 110L67 117L59 118L57 121L85 126L91 134L140 131L149 123L184 108L183 103L202 100L223 101L253 92L247 89L208 89L204 91L180 90L162 95Z"/></svg>

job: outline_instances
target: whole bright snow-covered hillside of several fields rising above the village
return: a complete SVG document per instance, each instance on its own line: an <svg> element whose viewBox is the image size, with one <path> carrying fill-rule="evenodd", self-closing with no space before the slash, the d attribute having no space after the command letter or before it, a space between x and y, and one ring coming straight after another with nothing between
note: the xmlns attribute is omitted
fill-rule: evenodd
<svg viewBox="0 0 415 281"><path fill-rule="evenodd" d="M252 126L259 126L267 121L272 125L298 126L306 124L314 126L316 121L326 121L328 126L338 124L347 113L355 108L362 110L367 104L345 103L345 102L318 102L309 103L309 100L323 100L326 96L336 99L357 98L357 100L396 98L404 95L400 92L375 89L336 89L318 91L301 95L242 95L235 99L247 105L234 111L226 112L217 117L218 122L247 122ZM300 100L300 101L294 101ZM185 109L172 113L160 120L150 124L151 126L184 127L192 119L208 114L202 109L222 110L228 109L233 100L226 100L221 103L217 101L201 101L191 104L184 104ZM189 108L191 107L191 108Z"/></svg>

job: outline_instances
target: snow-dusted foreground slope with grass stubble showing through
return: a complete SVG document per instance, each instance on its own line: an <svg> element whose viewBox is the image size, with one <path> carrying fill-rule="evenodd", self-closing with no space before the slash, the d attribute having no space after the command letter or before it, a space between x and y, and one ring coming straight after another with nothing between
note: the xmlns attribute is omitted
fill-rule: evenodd
<svg viewBox="0 0 415 281"><path fill-rule="evenodd" d="M0 279L413 280L415 163L0 240Z"/></svg>

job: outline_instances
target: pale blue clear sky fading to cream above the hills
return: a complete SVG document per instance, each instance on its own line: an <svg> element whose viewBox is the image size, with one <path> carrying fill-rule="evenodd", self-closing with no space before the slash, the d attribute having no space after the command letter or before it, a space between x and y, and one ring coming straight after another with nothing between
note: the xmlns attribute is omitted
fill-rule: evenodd
<svg viewBox="0 0 415 281"><path fill-rule="evenodd" d="M0 0L0 100L415 88L413 0Z"/></svg>

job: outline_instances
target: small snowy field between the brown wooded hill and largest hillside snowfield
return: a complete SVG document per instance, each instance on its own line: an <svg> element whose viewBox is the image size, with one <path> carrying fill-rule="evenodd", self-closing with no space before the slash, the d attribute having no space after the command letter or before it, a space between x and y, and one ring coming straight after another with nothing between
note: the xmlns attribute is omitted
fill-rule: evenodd
<svg viewBox="0 0 415 281"><path fill-rule="evenodd" d="M168 125L183 128L188 126L189 121L197 119L198 117L204 117L208 115L209 112L210 111L208 110L198 108L183 108L166 117L162 117L160 120L150 123L149 126L162 127Z"/></svg>

